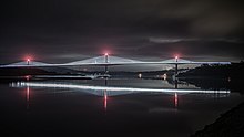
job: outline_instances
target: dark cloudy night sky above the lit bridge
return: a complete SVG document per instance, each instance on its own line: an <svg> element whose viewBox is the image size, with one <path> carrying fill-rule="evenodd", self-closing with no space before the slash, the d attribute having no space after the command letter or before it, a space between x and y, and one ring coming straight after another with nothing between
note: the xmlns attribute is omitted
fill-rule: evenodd
<svg viewBox="0 0 244 137"><path fill-rule="evenodd" d="M241 61L237 0L7 0L0 64L31 56L61 63L98 56Z"/></svg>

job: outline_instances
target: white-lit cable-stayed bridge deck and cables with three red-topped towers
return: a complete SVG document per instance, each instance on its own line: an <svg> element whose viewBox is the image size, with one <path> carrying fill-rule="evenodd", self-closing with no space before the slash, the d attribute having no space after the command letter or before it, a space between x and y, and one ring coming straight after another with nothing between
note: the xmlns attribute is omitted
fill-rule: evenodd
<svg viewBox="0 0 244 137"><path fill-rule="evenodd" d="M70 62L70 63L60 63L60 64L50 64L34 61L18 62L7 65L0 65L0 67L48 67L48 66L82 66L82 65L99 65L99 66L111 66L111 65L136 65L136 64L231 64L231 62L195 62L183 59L170 59L164 61L138 61L118 56L96 56L87 60Z"/></svg>

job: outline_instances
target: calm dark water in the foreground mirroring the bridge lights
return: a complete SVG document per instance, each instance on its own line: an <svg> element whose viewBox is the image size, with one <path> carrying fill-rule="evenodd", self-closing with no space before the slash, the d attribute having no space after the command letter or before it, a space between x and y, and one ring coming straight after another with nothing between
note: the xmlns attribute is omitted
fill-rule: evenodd
<svg viewBox="0 0 244 137"><path fill-rule="evenodd" d="M175 88L162 80L28 83L0 84L1 136L187 137L244 101L233 91L223 94L140 92L140 88ZM102 89L105 85L126 89ZM176 87L201 91L187 83L179 83Z"/></svg>

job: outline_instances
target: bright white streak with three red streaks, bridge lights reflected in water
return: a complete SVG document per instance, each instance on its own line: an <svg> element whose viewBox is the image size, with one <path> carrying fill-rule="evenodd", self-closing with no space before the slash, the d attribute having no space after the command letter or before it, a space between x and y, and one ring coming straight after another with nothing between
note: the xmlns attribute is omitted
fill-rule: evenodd
<svg viewBox="0 0 244 137"><path fill-rule="evenodd" d="M26 87L26 93L27 93L27 109L29 109L29 99L30 99L30 87L45 87L45 88L70 88L71 91L80 89L80 92L84 92L88 94L96 95L96 96L103 96L103 106L104 109L106 110L108 107L108 97L109 96L120 96L120 95L128 95L128 94L136 94L136 93L160 93L160 94L170 94L174 97L174 107L177 108L179 105L179 95L184 95L184 94L205 94L209 95L210 97L227 97L230 95L230 91L211 91L211 89L201 89L199 87L195 87L194 85L191 84L185 84L179 82L174 82L173 84L169 84L166 81L163 81L163 83L167 84L166 87L170 87L169 85L174 85L174 88L150 88L150 87L124 87L122 85L121 87L118 86L109 86L108 85L108 80L102 80L100 82L104 81L104 86L96 86L96 85L87 85L84 83L88 83L89 81L83 81L84 83L82 84L73 84L70 82L13 82L10 83L10 87ZM179 85L181 85L179 87Z"/></svg>

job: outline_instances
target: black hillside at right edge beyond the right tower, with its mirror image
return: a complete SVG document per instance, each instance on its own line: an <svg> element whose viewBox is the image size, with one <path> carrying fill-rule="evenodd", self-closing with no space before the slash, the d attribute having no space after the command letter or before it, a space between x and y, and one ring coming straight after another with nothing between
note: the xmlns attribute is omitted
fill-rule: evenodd
<svg viewBox="0 0 244 137"><path fill-rule="evenodd" d="M244 63L230 65L202 65L180 73L177 77L201 88L228 88L232 92L244 93L242 88Z"/></svg>

